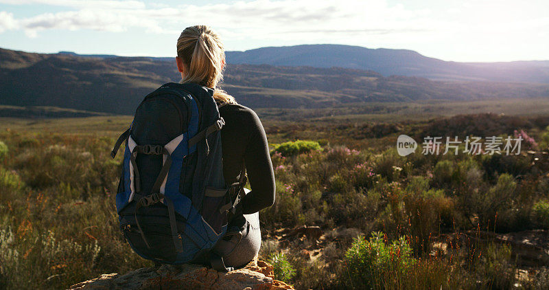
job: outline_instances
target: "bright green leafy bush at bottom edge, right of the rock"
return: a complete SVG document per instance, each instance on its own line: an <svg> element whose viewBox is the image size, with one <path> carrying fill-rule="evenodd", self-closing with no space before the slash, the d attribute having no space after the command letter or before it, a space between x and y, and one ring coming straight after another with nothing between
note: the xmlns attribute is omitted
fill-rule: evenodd
<svg viewBox="0 0 549 290"><path fill-rule="evenodd" d="M345 261L356 289L395 289L416 263L404 237L386 243L382 232L373 232L369 240L355 238Z"/></svg>

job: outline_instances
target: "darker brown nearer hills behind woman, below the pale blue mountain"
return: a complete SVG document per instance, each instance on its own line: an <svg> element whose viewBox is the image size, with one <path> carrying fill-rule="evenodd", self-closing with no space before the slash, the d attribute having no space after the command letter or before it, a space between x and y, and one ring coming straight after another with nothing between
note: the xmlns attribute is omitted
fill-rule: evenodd
<svg viewBox="0 0 549 290"><path fill-rule="evenodd" d="M143 96L178 78L173 60L0 49L0 104L4 105L132 114ZM254 109L549 97L547 84L433 81L341 67L229 64L223 87Z"/></svg>

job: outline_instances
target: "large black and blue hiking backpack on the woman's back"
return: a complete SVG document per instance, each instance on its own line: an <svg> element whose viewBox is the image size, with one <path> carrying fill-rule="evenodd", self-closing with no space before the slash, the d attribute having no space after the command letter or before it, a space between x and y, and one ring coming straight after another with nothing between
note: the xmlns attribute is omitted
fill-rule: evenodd
<svg viewBox="0 0 549 290"><path fill-rule="evenodd" d="M116 208L120 230L139 256L155 263L211 264L212 251L244 195L223 177L221 129L213 89L170 82L146 96L111 157L126 141Z"/></svg>

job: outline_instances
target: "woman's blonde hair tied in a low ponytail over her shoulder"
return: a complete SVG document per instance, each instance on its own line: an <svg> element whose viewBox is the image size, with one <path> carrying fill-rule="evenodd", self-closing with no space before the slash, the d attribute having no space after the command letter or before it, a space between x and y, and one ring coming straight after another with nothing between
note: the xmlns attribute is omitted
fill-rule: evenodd
<svg viewBox="0 0 549 290"><path fill-rule="evenodd" d="M185 65L181 82L195 82L214 89L213 98L219 102L236 104L235 98L220 88L223 79L225 52L218 34L206 25L185 28L177 40L177 56Z"/></svg>

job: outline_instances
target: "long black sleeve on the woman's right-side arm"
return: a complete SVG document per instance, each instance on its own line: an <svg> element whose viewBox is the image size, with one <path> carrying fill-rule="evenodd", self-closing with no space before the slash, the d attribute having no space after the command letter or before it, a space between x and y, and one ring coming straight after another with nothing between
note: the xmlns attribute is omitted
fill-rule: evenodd
<svg viewBox="0 0 549 290"><path fill-rule="evenodd" d="M251 111L251 110L250 110ZM270 160L267 136L259 117L251 111L250 135L244 151L244 163L251 191L242 199L242 213L253 214L274 203L274 170Z"/></svg>

